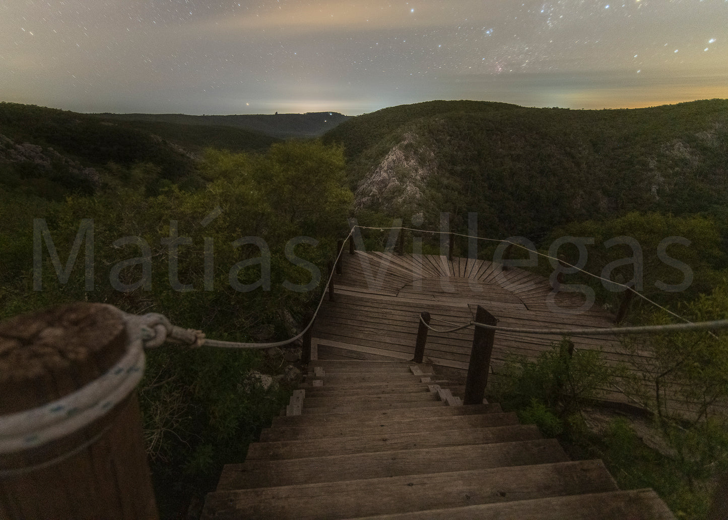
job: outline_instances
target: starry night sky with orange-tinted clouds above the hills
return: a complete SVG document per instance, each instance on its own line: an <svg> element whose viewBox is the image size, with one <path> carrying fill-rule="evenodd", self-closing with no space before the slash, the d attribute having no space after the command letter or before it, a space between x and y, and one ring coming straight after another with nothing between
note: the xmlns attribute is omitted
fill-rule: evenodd
<svg viewBox="0 0 728 520"><path fill-rule="evenodd" d="M728 98L728 0L4 0L0 101L348 115Z"/></svg>

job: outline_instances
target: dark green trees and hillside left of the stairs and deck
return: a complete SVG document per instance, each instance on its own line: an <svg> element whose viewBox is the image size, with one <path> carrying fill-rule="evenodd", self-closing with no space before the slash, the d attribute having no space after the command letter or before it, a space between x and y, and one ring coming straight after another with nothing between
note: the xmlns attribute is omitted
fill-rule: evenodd
<svg viewBox="0 0 728 520"><path fill-rule="evenodd" d="M208 149L197 159L166 140L189 131L175 125L154 131L161 140L81 114L8 104L0 114L0 318L88 300L161 312L215 339L276 341L300 330L352 201L339 147L269 139L258 153ZM260 141L230 148L248 146ZM148 352L140 401L162 516L186 518L222 465L243 460L288 400L281 377L295 359Z"/></svg>

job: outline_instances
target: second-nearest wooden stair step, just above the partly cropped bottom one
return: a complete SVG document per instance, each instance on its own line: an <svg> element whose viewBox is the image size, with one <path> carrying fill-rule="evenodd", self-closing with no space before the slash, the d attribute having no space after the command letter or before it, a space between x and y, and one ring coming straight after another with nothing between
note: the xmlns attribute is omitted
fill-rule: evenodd
<svg viewBox="0 0 728 520"><path fill-rule="evenodd" d="M555 462L215 492L207 495L202 518L214 511L219 520L350 519L614 490L601 460Z"/></svg>

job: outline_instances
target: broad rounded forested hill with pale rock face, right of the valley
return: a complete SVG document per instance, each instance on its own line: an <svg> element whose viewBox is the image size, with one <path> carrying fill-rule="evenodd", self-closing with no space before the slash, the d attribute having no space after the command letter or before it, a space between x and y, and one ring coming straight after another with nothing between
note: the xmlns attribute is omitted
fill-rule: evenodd
<svg viewBox="0 0 728 520"><path fill-rule="evenodd" d="M630 210L724 214L728 101L572 111L432 101L355 117L324 136L349 159L360 210L428 226L478 212L491 237Z"/></svg>

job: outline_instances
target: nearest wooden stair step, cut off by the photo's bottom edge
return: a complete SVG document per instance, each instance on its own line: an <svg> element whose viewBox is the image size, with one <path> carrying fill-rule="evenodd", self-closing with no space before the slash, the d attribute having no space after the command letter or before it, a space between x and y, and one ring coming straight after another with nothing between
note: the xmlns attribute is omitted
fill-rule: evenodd
<svg viewBox="0 0 728 520"><path fill-rule="evenodd" d="M414 513L357 516L352 520L675 520L652 489L545 497Z"/></svg>

